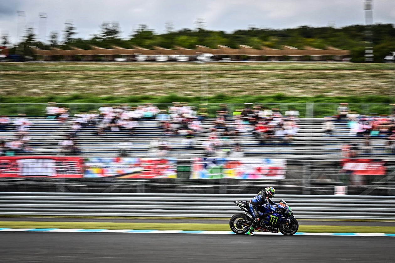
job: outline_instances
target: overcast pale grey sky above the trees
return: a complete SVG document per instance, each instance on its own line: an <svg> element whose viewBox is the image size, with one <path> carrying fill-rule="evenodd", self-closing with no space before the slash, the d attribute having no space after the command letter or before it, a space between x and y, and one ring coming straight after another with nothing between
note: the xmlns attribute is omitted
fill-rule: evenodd
<svg viewBox="0 0 395 263"><path fill-rule="evenodd" d="M364 0L0 0L0 34L12 43L26 24L33 25L39 38L47 42L52 31L62 35L64 23L72 21L88 39L97 34L103 22L119 22L122 36L128 37L139 24L156 33L165 32L166 23L174 30L195 28L204 19L205 28L233 32L238 29L348 26L365 24ZM25 17L18 17L24 11ZM39 18L46 13L47 18ZM373 0L373 22L395 23L395 0ZM17 34L19 32L19 34ZM60 41L63 38L59 39Z"/></svg>

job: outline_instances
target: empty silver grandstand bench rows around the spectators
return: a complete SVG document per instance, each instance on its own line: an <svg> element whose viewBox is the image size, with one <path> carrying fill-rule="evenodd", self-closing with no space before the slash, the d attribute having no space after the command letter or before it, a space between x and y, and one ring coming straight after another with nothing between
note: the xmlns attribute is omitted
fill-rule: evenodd
<svg viewBox="0 0 395 263"><path fill-rule="evenodd" d="M58 142L63 140L64 135L70 129L70 122L60 123L57 120L48 119L44 116L27 117L34 124L30 127L30 145L33 153L29 155L52 156L60 155ZM182 143L184 136L164 136L162 129L155 120L139 121L139 127L135 134L130 135L126 131L107 131L101 135L96 134L96 128L83 128L75 138L75 142L81 148L77 156L117 156L117 145L122 140L130 140L134 147L131 157L147 157L150 141L157 138L166 138L171 142L171 150L166 157L177 157L187 159L193 157L204 157L201 143L207 140L207 131L212 127L213 119L203 121L203 132L195 136L197 141L193 149L185 149ZM259 158L286 158L292 160L340 160L344 143L357 143L363 146L362 136L349 136L346 121L335 121L335 129L332 135L322 133L322 118L301 118L300 130L293 138L292 144L277 144L268 142L260 145L251 132L241 132L237 140L244 150L244 157ZM231 122L231 120L228 120ZM15 138L12 128L6 132L0 132L0 137L5 140ZM380 134L371 138L372 155L359 155L373 159L394 159L395 155L386 151L386 134Z"/></svg>

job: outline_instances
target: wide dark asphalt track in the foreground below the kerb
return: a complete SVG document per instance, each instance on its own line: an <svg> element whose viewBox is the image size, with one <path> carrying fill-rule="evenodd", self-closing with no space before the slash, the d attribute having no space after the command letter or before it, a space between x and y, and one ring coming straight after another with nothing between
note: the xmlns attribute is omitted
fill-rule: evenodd
<svg viewBox="0 0 395 263"><path fill-rule="evenodd" d="M394 237L154 233L0 234L1 262L393 263Z"/></svg>

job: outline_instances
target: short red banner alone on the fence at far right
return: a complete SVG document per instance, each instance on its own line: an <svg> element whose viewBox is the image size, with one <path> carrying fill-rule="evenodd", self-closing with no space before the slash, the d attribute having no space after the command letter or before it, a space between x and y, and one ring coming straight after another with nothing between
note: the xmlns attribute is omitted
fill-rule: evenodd
<svg viewBox="0 0 395 263"><path fill-rule="evenodd" d="M385 175L386 163L373 159L342 159L342 170L339 173L355 175Z"/></svg>

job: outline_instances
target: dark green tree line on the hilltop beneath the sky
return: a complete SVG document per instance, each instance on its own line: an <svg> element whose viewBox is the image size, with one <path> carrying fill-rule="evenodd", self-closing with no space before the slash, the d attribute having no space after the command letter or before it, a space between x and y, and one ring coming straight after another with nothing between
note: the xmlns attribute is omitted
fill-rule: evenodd
<svg viewBox="0 0 395 263"><path fill-rule="evenodd" d="M395 28L394 24L374 24L371 26L373 33L374 62L382 62L389 52L395 51ZM21 43L13 46L9 54L15 54L18 48L24 49L25 56L32 56L32 50L28 46L36 46L41 49L57 47L71 49L78 47L90 49L90 45L102 48L111 48L117 45L122 48L133 48L134 45L143 48L160 46L173 48L181 46L194 49L196 45L217 48L217 45L225 45L230 48L239 48L239 45L248 45L253 48L266 46L281 49L283 45L289 45L303 49L305 46L325 49L333 46L340 49L351 50L353 62L365 61L365 47L367 27L365 25L351 25L342 28L299 26L298 28L272 29L250 27L244 30L235 30L231 33L224 31L213 31L204 28L204 23L196 24L196 28L184 28L173 30L171 23L166 24L166 32L156 33L145 24L132 32L127 39L121 37L122 30L117 22L103 22L98 34L89 39L78 38L77 28L66 22L64 30L51 32L49 43L37 40L37 35L32 26L25 28L24 38ZM2 45L9 46L8 35L2 35Z"/></svg>

